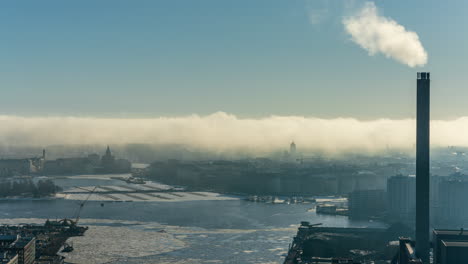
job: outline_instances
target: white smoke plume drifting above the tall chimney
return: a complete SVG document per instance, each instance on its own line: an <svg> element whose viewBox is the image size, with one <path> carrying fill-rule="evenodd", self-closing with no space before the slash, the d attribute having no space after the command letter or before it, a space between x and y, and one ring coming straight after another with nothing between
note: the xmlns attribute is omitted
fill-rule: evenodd
<svg viewBox="0 0 468 264"><path fill-rule="evenodd" d="M344 18L343 25L351 40L371 56L382 53L410 67L427 63L427 52L418 34L380 16L373 2L367 2L356 15Z"/></svg>

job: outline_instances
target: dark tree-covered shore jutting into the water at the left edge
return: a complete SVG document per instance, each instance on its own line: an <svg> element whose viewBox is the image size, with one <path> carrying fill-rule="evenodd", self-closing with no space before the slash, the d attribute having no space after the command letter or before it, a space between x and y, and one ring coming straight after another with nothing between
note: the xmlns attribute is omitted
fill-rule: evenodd
<svg viewBox="0 0 468 264"><path fill-rule="evenodd" d="M59 191L61 191L61 188L51 180L39 180L37 183L31 179L0 182L0 197L44 197L54 195Z"/></svg>

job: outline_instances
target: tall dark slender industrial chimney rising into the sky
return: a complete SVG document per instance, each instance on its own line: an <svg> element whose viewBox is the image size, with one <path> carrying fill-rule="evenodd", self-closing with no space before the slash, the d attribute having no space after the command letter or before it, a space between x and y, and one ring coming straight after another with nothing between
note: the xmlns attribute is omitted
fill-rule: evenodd
<svg viewBox="0 0 468 264"><path fill-rule="evenodd" d="M416 254L429 263L429 120L430 79L418 72L416 113Z"/></svg>

